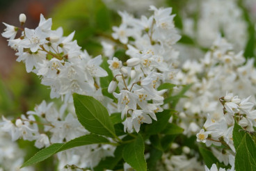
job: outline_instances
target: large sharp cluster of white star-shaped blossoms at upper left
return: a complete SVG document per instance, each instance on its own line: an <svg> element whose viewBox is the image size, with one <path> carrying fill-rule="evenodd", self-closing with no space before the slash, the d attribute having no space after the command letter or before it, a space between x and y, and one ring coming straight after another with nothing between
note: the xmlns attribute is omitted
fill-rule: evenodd
<svg viewBox="0 0 256 171"><path fill-rule="evenodd" d="M2 35L9 38L8 45L17 51L17 61L23 61L26 72L34 72L43 85L51 87L51 98L74 92L93 95L97 91L95 79L107 76L99 67L102 56L91 58L81 51L77 40L72 40L74 32L64 37L62 28L51 30L51 19L41 15L35 29L5 25ZM22 33L15 39L17 31Z"/></svg>

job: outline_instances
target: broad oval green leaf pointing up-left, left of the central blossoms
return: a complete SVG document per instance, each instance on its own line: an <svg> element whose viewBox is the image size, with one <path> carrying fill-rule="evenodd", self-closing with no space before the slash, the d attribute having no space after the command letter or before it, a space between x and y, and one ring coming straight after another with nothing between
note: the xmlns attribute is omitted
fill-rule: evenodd
<svg viewBox="0 0 256 171"><path fill-rule="evenodd" d="M106 108L95 98L73 95L74 108L79 122L91 133L115 137L115 129Z"/></svg>

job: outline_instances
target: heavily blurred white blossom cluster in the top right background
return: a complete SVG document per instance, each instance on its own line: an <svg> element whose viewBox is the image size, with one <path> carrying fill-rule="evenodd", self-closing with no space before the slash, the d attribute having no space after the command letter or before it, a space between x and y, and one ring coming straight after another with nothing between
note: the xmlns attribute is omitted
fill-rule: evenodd
<svg viewBox="0 0 256 171"><path fill-rule="evenodd" d="M197 40L200 46L210 47L221 31L236 49L243 49L246 46L248 26L237 1L190 1L185 9L194 15L198 13L197 21L185 16L183 24L184 33Z"/></svg>

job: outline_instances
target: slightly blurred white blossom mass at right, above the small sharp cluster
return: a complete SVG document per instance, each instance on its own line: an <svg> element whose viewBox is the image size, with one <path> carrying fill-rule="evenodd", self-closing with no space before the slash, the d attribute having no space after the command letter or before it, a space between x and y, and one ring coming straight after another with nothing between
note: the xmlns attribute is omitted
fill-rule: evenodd
<svg viewBox="0 0 256 171"><path fill-rule="evenodd" d="M225 92L235 92L239 97L248 97L256 92L256 70L254 60L246 61L243 51L235 54L232 45L218 38L204 58L186 60L182 71L177 73L173 82L177 85L192 84L186 98L177 104L179 125L187 135L195 135L204 124L207 115L214 120L223 117L218 99ZM255 101L255 97L252 96Z"/></svg>

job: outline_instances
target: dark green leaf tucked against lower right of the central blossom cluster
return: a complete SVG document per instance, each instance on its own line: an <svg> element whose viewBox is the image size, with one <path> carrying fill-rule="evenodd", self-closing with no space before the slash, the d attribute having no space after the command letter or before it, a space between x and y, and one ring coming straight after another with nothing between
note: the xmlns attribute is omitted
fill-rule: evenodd
<svg viewBox="0 0 256 171"><path fill-rule="evenodd" d="M156 113L157 121L153 121L152 124L148 124L146 127L146 132L150 135L157 134L163 131L168 124L171 113L169 110L164 110L162 112Z"/></svg>

